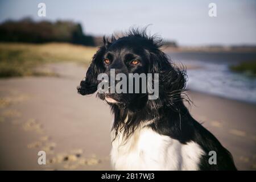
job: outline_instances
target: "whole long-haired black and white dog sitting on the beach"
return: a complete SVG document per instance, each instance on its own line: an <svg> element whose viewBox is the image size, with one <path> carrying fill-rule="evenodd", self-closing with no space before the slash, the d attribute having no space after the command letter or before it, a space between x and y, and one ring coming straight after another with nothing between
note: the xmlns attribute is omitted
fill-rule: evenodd
<svg viewBox="0 0 256 182"><path fill-rule="evenodd" d="M111 160L117 170L236 170L232 155L189 114L183 104L185 71L159 49L162 40L133 29L121 38L104 38L104 46L77 90L92 94L100 73L158 73L159 97L148 93L98 93L114 113ZM129 86L128 86L129 87ZM216 163L209 163L209 152Z"/></svg>

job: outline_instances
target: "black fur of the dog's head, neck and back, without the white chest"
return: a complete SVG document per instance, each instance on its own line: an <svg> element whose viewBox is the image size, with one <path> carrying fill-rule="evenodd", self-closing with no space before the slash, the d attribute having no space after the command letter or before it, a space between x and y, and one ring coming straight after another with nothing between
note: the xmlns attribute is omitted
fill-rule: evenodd
<svg viewBox="0 0 256 182"><path fill-rule="evenodd" d="M232 155L220 142L195 119L191 117L184 101L189 98L184 93L185 69L175 67L160 50L162 40L148 36L146 30L132 29L121 38L104 38L104 46L93 56L92 64L77 90L80 94L92 94L97 90L97 75L108 73L115 68L119 73L159 73L159 98L148 100L147 94L108 94L118 101L110 104L114 113L113 129L122 128L126 139L137 129L139 123L154 120L151 127L159 134L167 135L181 143L194 141L205 151L201 158L201 170L236 170ZM127 56L128 55L128 56ZM106 65L104 59L109 59ZM130 65L131 60L139 60L138 65ZM102 100L105 94L98 94ZM125 118L128 120L125 123ZM208 152L217 152L217 164L208 163Z"/></svg>

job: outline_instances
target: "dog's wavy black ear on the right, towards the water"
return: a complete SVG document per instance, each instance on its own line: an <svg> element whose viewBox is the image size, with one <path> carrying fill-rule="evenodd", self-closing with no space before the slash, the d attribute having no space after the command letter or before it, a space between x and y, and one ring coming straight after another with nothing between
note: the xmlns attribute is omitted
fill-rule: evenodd
<svg viewBox="0 0 256 182"><path fill-rule="evenodd" d="M167 56L160 50L150 53L150 73L159 74L159 98L148 100L148 104L155 109L169 106L171 109L179 110L180 101L183 101L183 93L186 82L185 69L177 68Z"/></svg>

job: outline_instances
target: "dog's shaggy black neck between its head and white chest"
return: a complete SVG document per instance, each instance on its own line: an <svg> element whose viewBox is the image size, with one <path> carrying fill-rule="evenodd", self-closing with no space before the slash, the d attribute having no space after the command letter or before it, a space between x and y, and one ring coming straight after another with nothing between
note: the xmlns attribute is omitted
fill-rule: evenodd
<svg viewBox="0 0 256 182"><path fill-rule="evenodd" d="M154 107L148 102L144 107L133 109L130 109L129 106L113 105L113 130L116 132L123 130L126 138L129 138L129 135L142 125L148 125L153 130L163 134L165 132L164 128L168 127L172 129L172 131L168 131L170 132L168 135L173 135L174 138L183 138L181 137L181 135L184 135L182 129L184 126L188 126L190 121L188 118L191 118L191 115L182 101L177 105L179 107L176 110L170 106Z"/></svg>

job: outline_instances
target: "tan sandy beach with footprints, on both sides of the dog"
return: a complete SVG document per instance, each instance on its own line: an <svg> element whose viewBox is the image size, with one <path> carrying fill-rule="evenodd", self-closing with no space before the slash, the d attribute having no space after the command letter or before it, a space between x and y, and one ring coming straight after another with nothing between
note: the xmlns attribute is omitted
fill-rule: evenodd
<svg viewBox="0 0 256 182"><path fill-rule="evenodd" d="M0 169L111 170L112 114L76 92L86 68L60 63L59 77L0 79ZM256 169L256 105L188 91L191 113L232 153L238 169ZM99 112L100 111L100 112ZM38 151L47 164L38 164Z"/></svg>

